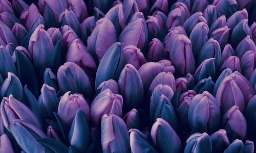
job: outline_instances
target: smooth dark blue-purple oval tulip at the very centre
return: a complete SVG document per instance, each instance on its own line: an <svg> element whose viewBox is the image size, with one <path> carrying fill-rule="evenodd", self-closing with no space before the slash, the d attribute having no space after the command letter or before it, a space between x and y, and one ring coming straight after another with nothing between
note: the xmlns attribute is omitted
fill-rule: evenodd
<svg viewBox="0 0 256 153"><path fill-rule="evenodd" d="M131 110L143 104L143 84L137 69L126 64L120 73L118 88L123 96L124 109Z"/></svg>

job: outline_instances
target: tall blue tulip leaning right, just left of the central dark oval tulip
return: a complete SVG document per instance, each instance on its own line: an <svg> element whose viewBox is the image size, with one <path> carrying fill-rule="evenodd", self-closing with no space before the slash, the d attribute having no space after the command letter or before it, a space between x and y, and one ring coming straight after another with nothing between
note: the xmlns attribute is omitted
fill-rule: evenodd
<svg viewBox="0 0 256 153"><path fill-rule="evenodd" d="M102 82L108 81L109 79L117 81L123 66L123 45L120 42L116 42L106 50L105 55L99 63L96 72L95 88L97 89Z"/></svg>

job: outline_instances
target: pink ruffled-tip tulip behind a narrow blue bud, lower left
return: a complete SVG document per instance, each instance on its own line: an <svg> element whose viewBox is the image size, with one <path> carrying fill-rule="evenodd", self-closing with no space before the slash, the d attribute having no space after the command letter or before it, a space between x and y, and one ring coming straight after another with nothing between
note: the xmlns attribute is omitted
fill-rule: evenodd
<svg viewBox="0 0 256 153"><path fill-rule="evenodd" d="M86 115L86 119L90 121L90 108L89 105L81 94L71 94L66 92L60 99L58 104L58 115L63 122L71 126L72 121L75 118L78 109L82 109L82 112Z"/></svg>

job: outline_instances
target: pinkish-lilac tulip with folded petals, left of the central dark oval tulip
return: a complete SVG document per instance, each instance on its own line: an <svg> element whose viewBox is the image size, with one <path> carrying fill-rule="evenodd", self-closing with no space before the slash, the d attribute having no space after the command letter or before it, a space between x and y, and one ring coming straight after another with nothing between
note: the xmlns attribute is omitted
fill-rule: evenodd
<svg viewBox="0 0 256 153"><path fill-rule="evenodd" d="M122 116L123 98L119 94L114 94L110 89L100 92L91 105L91 121L93 126L99 127L104 114L115 114ZM125 126L125 129L126 126Z"/></svg>

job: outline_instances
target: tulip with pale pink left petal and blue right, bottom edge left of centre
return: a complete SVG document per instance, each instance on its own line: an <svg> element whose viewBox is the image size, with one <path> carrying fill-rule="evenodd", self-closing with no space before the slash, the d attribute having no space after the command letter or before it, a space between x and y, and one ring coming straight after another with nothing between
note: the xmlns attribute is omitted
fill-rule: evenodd
<svg viewBox="0 0 256 153"><path fill-rule="evenodd" d="M129 133L124 121L116 115L103 115L101 120L103 152L131 152Z"/></svg>

